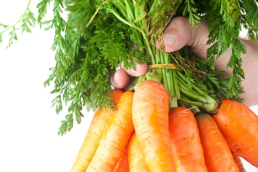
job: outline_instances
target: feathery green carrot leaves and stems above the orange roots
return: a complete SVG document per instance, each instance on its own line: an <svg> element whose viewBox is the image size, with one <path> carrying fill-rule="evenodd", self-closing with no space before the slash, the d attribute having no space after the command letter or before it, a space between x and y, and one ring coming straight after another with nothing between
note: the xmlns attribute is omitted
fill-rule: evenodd
<svg viewBox="0 0 258 172"><path fill-rule="evenodd" d="M171 107L176 103L206 104L221 97L240 100L238 94L242 92L240 84L244 78L241 53L246 50L237 38L241 26L248 29L250 39L258 38L256 3L257 0L41 0L36 20L29 10L29 0L17 23L0 23L0 43L2 35L10 33L9 46L17 40L17 30L30 32L36 22L42 29L54 29L52 49L56 65L44 84L54 83L51 93L56 94L52 103L57 114L63 104L69 106L58 131L62 135L72 129L74 119L81 122L82 108L112 108L110 76L121 62L126 68L134 68L133 58L139 63L180 66L181 71L148 71L149 76L161 79L167 88ZM64 11L67 15L63 15ZM48 13L53 14L51 19L45 19ZM173 54L156 49L155 42L162 40L163 30L175 16L189 17L194 28L199 19L211 23L207 43L215 44L207 51L208 62L190 56L186 47ZM134 45L139 51L134 50ZM214 60L229 48L233 52L228 63L232 75L218 79L223 71L215 71ZM183 89L185 86L194 89Z"/></svg>

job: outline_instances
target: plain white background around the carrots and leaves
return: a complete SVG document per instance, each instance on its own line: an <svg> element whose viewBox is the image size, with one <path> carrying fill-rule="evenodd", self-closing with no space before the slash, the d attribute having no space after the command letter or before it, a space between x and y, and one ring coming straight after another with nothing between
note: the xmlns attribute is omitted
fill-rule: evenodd
<svg viewBox="0 0 258 172"><path fill-rule="evenodd" d="M38 2L30 5L36 17ZM26 5L27 0L1 0L0 22L15 23ZM57 115L51 108L53 87L43 86L55 65L53 35L37 26L18 35L10 48L0 46L0 172L69 172L85 137L93 114L86 110L81 124L57 136L67 109ZM256 113L257 107L252 107ZM247 172L258 172L249 163L244 166Z"/></svg>

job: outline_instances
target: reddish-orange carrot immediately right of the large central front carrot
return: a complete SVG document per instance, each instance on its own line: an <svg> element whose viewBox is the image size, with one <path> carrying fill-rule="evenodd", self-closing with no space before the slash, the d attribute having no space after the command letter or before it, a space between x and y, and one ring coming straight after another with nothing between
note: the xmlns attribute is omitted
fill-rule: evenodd
<svg viewBox="0 0 258 172"><path fill-rule="evenodd" d="M169 131L177 172L207 172L196 119L192 111L175 107L169 111Z"/></svg>

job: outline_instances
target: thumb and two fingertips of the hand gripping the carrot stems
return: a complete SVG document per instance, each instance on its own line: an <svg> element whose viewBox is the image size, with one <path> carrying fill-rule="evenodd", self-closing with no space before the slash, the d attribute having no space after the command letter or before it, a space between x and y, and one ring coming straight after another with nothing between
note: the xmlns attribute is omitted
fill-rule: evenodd
<svg viewBox="0 0 258 172"><path fill-rule="evenodd" d="M170 25L165 29L163 35L166 52L177 51L188 45L192 48L193 53L200 58L206 57L206 41L208 39L208 24L204 21L200 22L200 28L193 29L189 24L189 19L184 17L175 17ZM156 44L160 48L160 43ZM225 65L226 67L226 65ZM121 69L115 71L111 77L111 84L115 88L123 88L129 83L129 76L138 77L146 72L146 64L137 64L136 71L125 70L121 65Z"/></svg>

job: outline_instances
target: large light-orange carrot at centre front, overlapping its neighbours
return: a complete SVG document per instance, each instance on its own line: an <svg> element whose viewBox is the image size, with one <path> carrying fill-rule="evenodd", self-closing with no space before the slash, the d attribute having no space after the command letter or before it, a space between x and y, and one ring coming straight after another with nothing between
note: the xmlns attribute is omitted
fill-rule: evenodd
<svg viewBox="0 0 258 172"><path fill-rule="evenodd" d="M133 123L150 172L173 172L168 129L169 95L161 83L145 80L135 89Z"/></svg>

